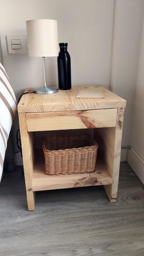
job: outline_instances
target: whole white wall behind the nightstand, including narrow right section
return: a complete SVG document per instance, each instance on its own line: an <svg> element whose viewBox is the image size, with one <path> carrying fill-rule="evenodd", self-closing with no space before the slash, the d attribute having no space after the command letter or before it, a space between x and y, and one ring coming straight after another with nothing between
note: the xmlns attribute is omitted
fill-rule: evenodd
<svg viewBox="0 0 144 256"><path fill-rule="evenodd" d="M26 20L56 19L59 42L68 42L72 84L111 85L128 101L123 145L130 145L144 1L0 0L0 4L2 55L16 95L26 87L43 85L42 65L38 58L8 54L5 35L26 34ZM49 84L57 85L56 57L47 58L47 67Z"/></svg>

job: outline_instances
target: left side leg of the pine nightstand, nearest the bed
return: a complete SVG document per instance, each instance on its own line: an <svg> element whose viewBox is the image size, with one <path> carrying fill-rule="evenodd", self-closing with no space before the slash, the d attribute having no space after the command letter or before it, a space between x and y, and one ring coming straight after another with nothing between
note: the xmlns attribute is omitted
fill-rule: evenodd
<svg viewBox="0 0 144 256"><path fill-rule="evenodd" d="M35 192L32 191L32 177L34 169L33 133L27 132L26 114L19 113L21 147L23 152L24 178L26 183L28 210L35 210Z"/></svg>

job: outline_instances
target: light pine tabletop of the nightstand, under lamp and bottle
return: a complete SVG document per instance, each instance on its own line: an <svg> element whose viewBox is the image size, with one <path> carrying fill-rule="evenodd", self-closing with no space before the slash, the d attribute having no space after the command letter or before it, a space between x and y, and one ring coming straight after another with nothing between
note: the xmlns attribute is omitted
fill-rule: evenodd
<svg viewBox="0 0 144 256"><path fill-rule="evenodd" d="M79 90L98 87L104 98L76 98ZM54 94L27 93L18 104L18 112L78 111L87 109L125 108L126 100L100 86L73 86Z"/></svg>

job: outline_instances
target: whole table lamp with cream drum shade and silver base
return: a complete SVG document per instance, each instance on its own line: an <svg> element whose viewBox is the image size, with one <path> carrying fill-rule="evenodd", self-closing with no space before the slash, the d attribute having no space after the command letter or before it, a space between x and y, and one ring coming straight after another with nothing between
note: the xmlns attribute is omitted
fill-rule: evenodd
<svg viewBox="0 0 144 256"><path fill-rule="evenodd" d="M49 88L46 82L45 57L58 56L58 36L56 20L26 21L29 56L42 57L44 87L35 89L38 94L56 93L57 88Z"/></svg>

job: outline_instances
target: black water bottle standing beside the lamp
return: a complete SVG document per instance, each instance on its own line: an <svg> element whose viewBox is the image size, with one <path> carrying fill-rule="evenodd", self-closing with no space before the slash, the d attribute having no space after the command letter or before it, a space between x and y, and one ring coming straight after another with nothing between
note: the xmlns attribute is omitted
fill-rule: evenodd
<svg viewBox="0 0 144 256"><path fill-rule="evenodd" d="M68 43L59 43L60 52L57 57L58 81L60 90L71 89L71 57L67 51Z"/></svg>

